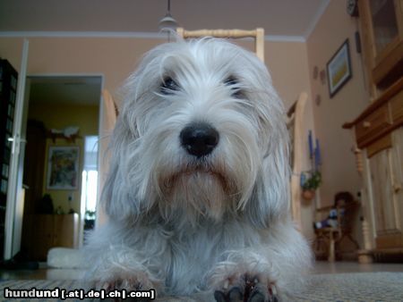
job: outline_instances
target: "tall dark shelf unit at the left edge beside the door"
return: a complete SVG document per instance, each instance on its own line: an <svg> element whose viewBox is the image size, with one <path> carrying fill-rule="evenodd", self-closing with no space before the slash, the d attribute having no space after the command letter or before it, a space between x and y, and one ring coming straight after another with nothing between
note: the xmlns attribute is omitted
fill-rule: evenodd
<svg viewBox="0 0 403 302"><path fill-rule="evenodd" d="M0 259L4 258L4 222L8 173L13 137L13 118L17 96L18 72L0 58Z"/></svg>

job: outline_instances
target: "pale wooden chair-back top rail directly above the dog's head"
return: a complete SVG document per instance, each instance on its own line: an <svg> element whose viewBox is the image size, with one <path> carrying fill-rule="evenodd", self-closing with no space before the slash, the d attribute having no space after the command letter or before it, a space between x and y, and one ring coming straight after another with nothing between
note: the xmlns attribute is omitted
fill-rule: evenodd
<svg viewBox="0 0 403 302"><path fill-rule="evenodd" d="M264 63L264 29L257 28L253 30L242 29L200 29L200 30L185 30L177 28L176 33L181 38L254 38L255 52L259 59Z"/></svg>

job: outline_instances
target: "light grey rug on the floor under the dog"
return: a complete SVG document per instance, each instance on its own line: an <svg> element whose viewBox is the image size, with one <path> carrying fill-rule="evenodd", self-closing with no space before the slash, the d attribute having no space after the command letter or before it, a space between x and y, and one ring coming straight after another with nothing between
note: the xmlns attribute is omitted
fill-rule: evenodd
<svg viewBox="0 0 403 302"><path fill-rule="evenodd" d="M403 273L337 273L314 274L310 286L294 301L338 301L358 302L403 301ZM79 281L1 281L1 301L58 301L54 298L7 299L5 289L80 289ZM157 299L157 301L162 301ZM189 301L186 298L170 298L163 301Z"/></svg>

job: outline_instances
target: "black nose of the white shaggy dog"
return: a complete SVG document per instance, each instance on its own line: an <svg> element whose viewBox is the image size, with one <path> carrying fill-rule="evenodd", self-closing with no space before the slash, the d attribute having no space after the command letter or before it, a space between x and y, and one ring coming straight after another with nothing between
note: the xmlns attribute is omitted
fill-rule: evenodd
<svg viewBox="0 0 403 302"><path fill-rule="evenodd" d="M198 122L184 127L180 139L187 153L201 157L210 154L219 144L219 132L208 123Z"/></svg>

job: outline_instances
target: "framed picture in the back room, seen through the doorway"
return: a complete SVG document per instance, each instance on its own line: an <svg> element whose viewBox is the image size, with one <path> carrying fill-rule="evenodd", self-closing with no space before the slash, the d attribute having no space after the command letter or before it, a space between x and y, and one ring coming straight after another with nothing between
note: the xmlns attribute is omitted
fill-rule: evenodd
<svg viewBox="0 0 403 302"><path fill-rule="evenodd" d="M49 147L47 189L78 188L79 151L79 147Z"/></svg>

